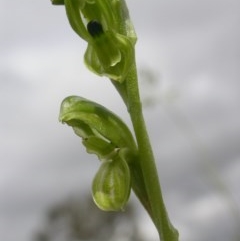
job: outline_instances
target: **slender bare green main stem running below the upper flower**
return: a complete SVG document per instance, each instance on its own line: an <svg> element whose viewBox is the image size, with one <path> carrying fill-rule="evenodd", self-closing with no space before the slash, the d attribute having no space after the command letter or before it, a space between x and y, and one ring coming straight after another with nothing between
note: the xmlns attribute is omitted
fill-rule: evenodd
<svg viewBox="0 0 240 241"><path fill-rule="evenodd" d="M150 216L162 241L177 241L178 232L169 221L162 197L152 147L149 141L140 101L136 65L133 64L126 81L128 112L139 149L139 161L151 207Z"/></svg>

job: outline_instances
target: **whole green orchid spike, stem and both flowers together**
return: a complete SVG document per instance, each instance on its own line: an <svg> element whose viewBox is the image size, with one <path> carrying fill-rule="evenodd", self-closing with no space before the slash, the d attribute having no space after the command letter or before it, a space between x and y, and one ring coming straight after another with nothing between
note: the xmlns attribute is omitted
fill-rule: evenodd
<svg viewBox="0 0 240 241"><path fill-rule="evenodd" d="M95 102L77 96L62 102L59 120L71 126L82 138L87 152L96 154L101 161L92 185L96 204L106 211L122 210L132 187L159 237L177 241L178 232L168 218L142 113L134 53L137 38L125 1L52 3L65 5L70 25L88 44L84 55L87 67L110 78L133 125L135 138L117 115Z"/></svg>

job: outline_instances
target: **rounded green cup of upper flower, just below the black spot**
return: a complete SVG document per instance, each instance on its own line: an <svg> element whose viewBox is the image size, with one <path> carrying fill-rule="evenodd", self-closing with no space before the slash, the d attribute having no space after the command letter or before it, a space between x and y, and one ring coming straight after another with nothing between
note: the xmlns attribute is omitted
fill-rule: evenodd
<svg viewBox="0 0 240 241"><path fill-rule="evenodd" d="M129 38L107 31L94 38L84 55L86 66L100 76L123 82L134 59Z"/></svg>

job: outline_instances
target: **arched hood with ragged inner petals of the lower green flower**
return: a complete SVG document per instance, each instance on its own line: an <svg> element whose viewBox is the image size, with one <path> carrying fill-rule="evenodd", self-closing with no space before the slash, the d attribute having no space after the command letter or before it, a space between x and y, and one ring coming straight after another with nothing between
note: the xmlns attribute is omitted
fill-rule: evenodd
<svg viewBox="0 0 240 241"><path fill-rule="evenodd" d="M100 160L109 159L119 148L129 149L134 154L137 152L135 140L126 124L117 115L93 101L80 96L65 98L61 104L59 120L71 126L82 138L87 151L96 154ZM125 154L124 159L127 159Z"/></svg>

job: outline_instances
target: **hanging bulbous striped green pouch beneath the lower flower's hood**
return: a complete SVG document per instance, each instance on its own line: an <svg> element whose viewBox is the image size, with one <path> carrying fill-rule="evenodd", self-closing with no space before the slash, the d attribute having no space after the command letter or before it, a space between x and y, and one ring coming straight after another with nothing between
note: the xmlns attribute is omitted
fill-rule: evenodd
<svg viewBox="0 0 240 241"><path fill-rule="evenodd" d="M93 199L104 211L123 210L130 195L131 178L125 160L117 154L104 161L92 183Z"/></svg>

